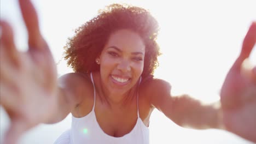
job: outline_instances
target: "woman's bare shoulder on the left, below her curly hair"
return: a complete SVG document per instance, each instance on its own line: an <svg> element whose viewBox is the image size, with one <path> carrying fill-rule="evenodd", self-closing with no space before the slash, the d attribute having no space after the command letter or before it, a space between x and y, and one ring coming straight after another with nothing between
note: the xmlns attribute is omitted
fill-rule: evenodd
<svg viewBox="0 0 256 144"><path fill-rule="evenodd" d="M93 88L90 76L84 73L68 73L59 78L59 87L67 94L67 100L78 106L84 99L90 97Z"/></svg>

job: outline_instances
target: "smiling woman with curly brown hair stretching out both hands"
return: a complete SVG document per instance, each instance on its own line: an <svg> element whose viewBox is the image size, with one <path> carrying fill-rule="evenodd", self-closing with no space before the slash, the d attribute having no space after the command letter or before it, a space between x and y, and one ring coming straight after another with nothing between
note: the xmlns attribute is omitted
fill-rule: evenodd
<svg viewBox="0 0 256 144"><path fill-rule="evenodd" d="M10 26L1 22L1 105L12 123L6 143L14 143L23 131L39 123L59 122L69 112L71 143L148 143L147 127L154 108L183 127L225 128L256 141L252 127L255 68L246 76L240 73L255 44L255 23L226 77L222 107L217 109L188 95L172 97L170 85L154 79L158 25L148 11L110 5L78 28L66 46L66 59L75 73L57 81L36 12L30 1L20 0L20 7L29 35L27 52L15 49Z"/></svg>

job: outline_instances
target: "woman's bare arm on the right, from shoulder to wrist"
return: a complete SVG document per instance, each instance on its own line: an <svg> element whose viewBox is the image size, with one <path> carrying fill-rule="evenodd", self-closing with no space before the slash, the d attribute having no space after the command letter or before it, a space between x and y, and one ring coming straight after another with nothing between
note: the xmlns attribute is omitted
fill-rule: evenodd
<svg viewBox="0 0 256 144"><path fill-rule="evenodd" d="M171 95L171 86L163 80L149 82L150 103L174 123L196 129L223 128L219 103L203 105L189 95ZM154 87L154 88L153 88Z"/></svg>

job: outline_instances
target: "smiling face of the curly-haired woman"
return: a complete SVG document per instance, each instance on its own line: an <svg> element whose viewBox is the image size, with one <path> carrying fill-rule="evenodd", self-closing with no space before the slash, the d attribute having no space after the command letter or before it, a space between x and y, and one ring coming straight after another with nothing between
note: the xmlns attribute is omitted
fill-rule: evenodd
<svg viewBox="0 0 256 144"><path fill-rule="evenodd" d="M122 95L135 86L144 67L145 45L128 29L110 35L100 55L101 83L109 95Z"/></svg>

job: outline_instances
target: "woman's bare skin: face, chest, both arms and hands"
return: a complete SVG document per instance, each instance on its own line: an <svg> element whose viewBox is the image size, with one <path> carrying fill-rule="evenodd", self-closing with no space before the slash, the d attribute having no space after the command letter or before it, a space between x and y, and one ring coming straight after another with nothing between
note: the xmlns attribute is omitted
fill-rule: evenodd
<svg viewBox="0 0 256 144"><path fill-rule="evenodd" d="M94 104L94 88L89 75L70 73L57 80L53 57L39 31L36 10L28 0L19 2L30 49L18 51L11 27L1 21L0 96L1 105L11 121L4 143L16 143L24 131L39 123L59 122L70 112L74 117L84 117ZM243 41L240 56L226 76L220 93L222 107L202 105L189 95L173 97L171 86L166 81L144 80L139 86L138 97L139 115L143 123L148 126L150 115L156 108L182 127L225 128L256 142L256 128L253 126L253 119L256 119L256 68L243 70L242 67L255 41L254 22ZM138 34L129 29L120 29L110 35L101 55L96 58L101 70L93 73L95 113L98 124L110 136L120 137L129 133L136 123L136 92L145 49ZM137 54L134 55L134 52ZM112 75L129 77L129 81L125 85L118 83L112 79Z"/></svg>

